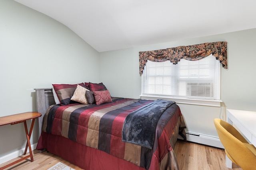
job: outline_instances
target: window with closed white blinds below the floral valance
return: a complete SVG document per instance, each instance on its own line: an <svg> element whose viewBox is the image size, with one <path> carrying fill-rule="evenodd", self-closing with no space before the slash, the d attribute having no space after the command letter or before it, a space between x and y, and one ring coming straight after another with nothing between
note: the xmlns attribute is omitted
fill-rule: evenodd
<svg viewBox="0 0 256 170"><path fill-rule="evenodd" d="M142 74L142 95L157 98L220 100L220 61L210 55L199 61L148 61Z"/></svg>

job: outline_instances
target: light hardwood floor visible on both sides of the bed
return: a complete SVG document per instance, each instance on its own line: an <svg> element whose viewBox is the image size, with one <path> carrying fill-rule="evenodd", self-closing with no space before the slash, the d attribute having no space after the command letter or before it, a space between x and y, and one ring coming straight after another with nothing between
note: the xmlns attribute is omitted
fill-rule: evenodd
<svg viewBox="0 0 256 170"><path fill-rule="evenodd" d="M58 162L62 162L75 170L82 170L78 166L70 164L68 161L63 160L52 153L46 151L40 153L38 150L34 150L33 152L33 162L30 162L30 159L24 160L5 170L47 170ZM236 168L226 168L225 152L223 149L178 140L174 147L174 152L180 170L242 170L242 168L239 168L235 164L233 167ZM9 162L5 162L4 164L1 164L0 167L8 163Z"/></svg>

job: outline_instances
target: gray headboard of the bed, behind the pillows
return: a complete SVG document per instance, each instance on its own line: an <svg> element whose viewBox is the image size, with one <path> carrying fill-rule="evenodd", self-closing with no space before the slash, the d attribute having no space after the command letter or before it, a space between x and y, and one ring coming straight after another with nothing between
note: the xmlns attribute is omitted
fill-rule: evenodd
<svg viewBox="0 0 256 170"><path fill-rule="evenodd" d="M42 114L38 119L39 124L39 136L42 133L42 126L44 120L44 114L46 113L48 107L55 104L52 88L36 88L36 107L37 111Z"/></svg>

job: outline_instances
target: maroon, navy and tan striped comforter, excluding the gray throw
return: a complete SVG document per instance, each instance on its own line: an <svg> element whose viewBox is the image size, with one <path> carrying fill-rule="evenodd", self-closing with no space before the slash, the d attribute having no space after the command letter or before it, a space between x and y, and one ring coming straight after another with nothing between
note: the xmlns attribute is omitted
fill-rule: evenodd
<svg viewBox="0 0 256 170"><path fill-rule="evenodd" d="M145 169L178 169L172 147L178 132L186 137L180 108L172 104L162 113L153 149L148 149L122 142L122 127L129 113L153 101L128 98L112 98L112 101L98 106L52 105L44 116L43 131L102 150Z"/></svg>

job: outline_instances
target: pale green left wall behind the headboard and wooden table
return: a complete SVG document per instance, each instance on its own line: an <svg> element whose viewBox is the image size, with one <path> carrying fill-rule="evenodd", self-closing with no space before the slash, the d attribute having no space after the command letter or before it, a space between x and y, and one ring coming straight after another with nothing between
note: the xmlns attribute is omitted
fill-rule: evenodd
<svg viewBox="0 0 256 170"><path fill-rule="evenodd" d="M36 111L34 88L99 82L99 53L48 16L0 0L0 117ZM30 122L28 122L30 124ZM31 143L37 143L38 123ZM0 157L26 146L24 125L0 127Z"/></svg>

